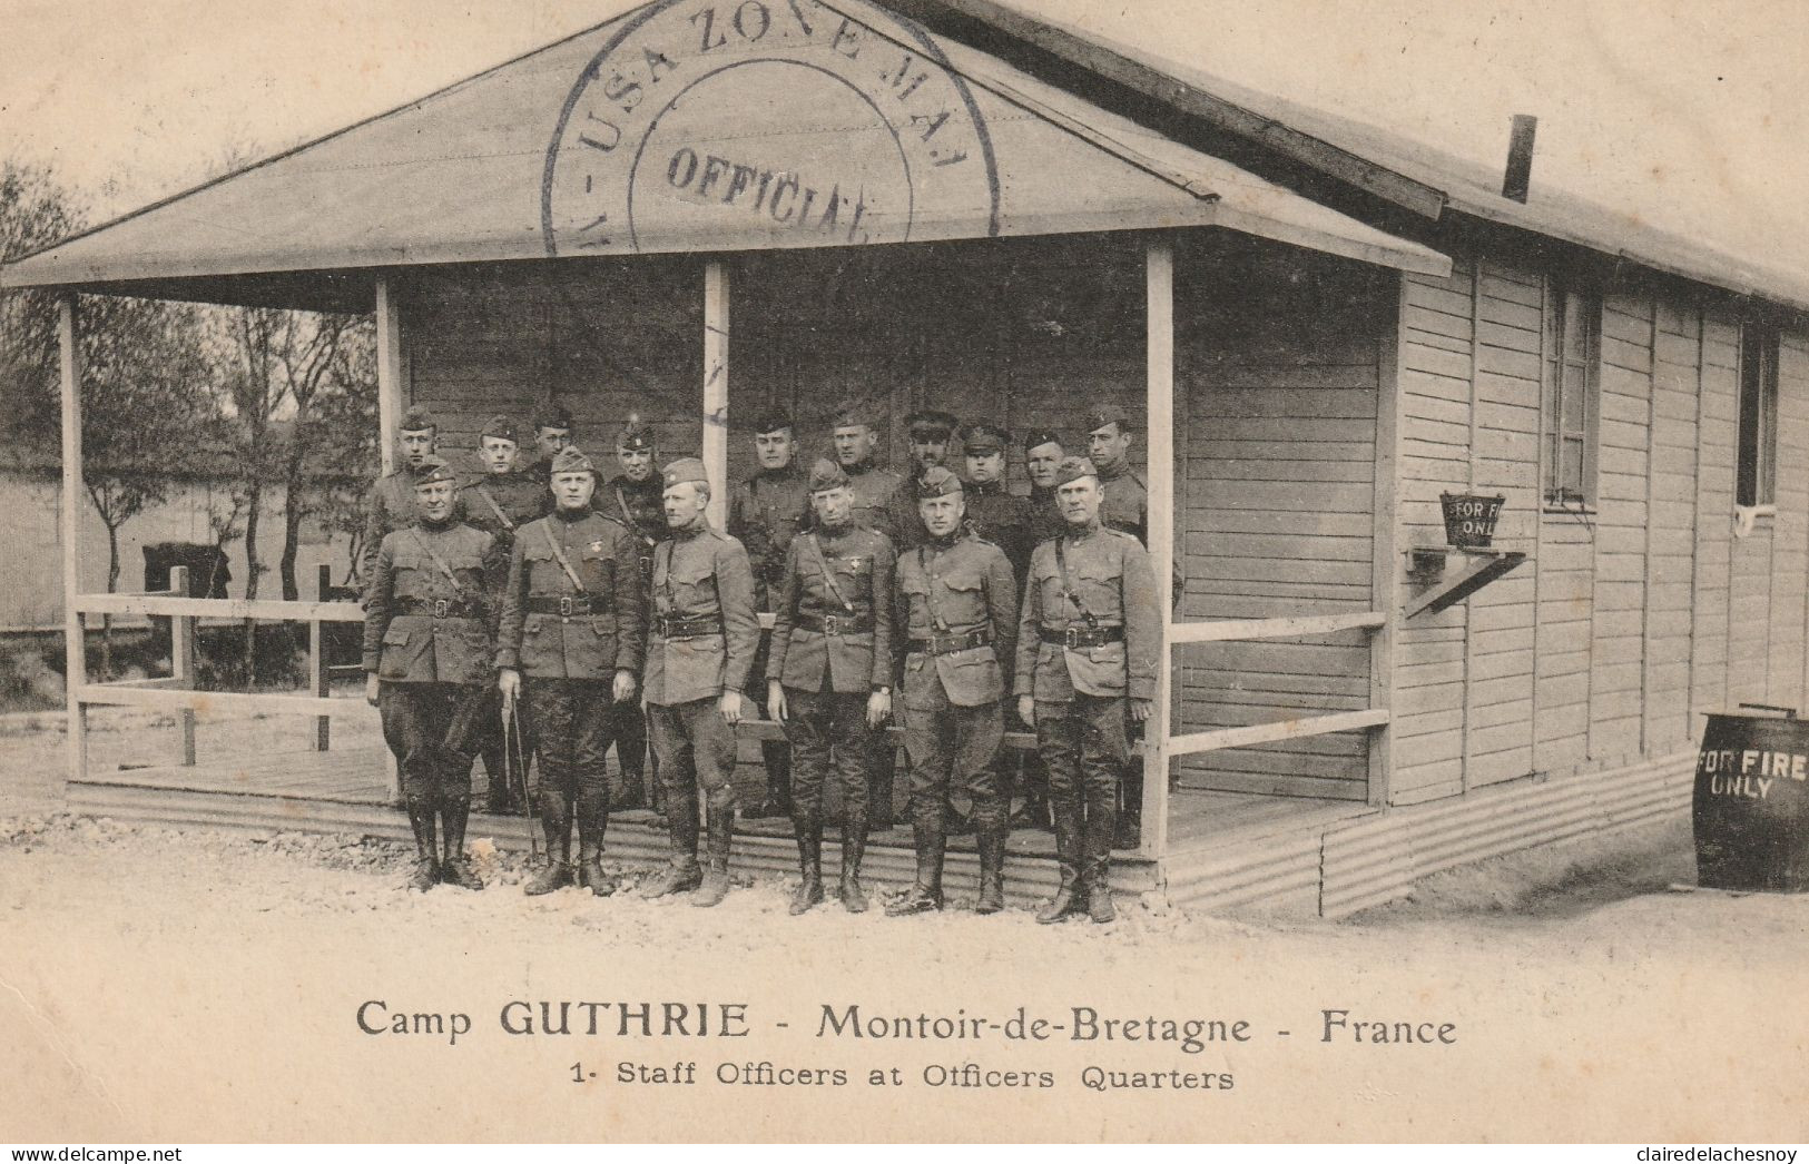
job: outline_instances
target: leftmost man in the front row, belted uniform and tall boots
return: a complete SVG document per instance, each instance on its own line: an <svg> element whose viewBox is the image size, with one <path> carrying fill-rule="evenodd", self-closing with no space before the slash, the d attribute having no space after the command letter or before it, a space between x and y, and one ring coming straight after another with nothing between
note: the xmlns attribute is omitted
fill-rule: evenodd
<svg viewBox="0 0 1809 1164"><path fill-rule="evenodd" d="M483 889L465 860L476 719L490 685L485 596L496 540L454 513L456 483L440 457L414 468L416 522L384 535L364 595L364 698L384 716L414 830L409 886ZM436 817L445 851L436 848Z"/></svg>

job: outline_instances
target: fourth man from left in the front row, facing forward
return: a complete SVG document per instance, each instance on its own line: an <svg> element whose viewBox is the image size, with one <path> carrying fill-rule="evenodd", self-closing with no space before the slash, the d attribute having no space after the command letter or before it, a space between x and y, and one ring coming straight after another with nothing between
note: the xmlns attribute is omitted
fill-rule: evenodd
<svg viewBox="0 0 1809 1164"><path fill-rule="evenodd" d="M785 555L767 710L785 725L798 761L792 824L803 882L791 911L823 900L823 784L841 784L841 904L867 911L867 766L874 732L892 716L892 542L854 519L848 474L834 461L810 470L816 528Z"/></svg>

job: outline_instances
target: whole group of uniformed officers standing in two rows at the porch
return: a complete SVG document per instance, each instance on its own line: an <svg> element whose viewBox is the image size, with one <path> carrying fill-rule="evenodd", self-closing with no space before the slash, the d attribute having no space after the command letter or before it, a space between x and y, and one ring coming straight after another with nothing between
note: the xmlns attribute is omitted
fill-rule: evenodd
<svg viewBox="0 0 1809 1164"><path fill-rule="evenodd" d="M977 911L997 913L1013 824L1002 754L1011 710L1037 734L1026 792L1037 815L1046 783L1062 873L1038 920L1109 922L1109 855L1134 839L1141 803L1131 739L1161 649L1129 419L1089 416L1085 457L1031 430L1029 497L1006 488L1006 430L962 428L935 410L906 425L912 472L899 475L874 463L874 416L861 407L838 412L832 454L809 470L791 418L762 418L760 468L736 486L727 530L715 530L704 465L662 466L639 418L617 436L610 481L557 408L535 418L539 457L526 466L521 434L494 418L479 434L481 472L459 481L436 452L432 416L409 410L402 463L369 502L364 667L416 839L411 886L481 887L465 855L474 761L490 808L507 810L505 774L537 756L546 860L525 891L613 893L602 840L615 746L624 803L664 815L671 844L640 896L720 904L736 725L758 707L783 739L762 743L767 788L751 813L792 821L801 880L791 913L825 900L830 784L841 799L836 896L868 909L861 862L868 831L892 824L892 719L917 873L886 913L942 907L957 826L979 848ZM957 439L964 477L948 465ZM760 613L772 615L769 636ZM961 793L966 822L952 804Z"/></svg>

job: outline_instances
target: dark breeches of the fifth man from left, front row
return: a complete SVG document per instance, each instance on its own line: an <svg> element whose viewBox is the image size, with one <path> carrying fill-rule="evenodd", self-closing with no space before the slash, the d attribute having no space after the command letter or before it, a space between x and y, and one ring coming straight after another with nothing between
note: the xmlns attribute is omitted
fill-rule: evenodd
<svg viewBox="0 0 1809 1164"><path fill-rule="evenodd" d="M957 707L942 681L912 689L904 705L904 754L910 757L910 813L921 826L946 821L948 795L973 799L973 824L1004 828L1006 801L999 779L999 745L1004 739L999 703Z"/></svg>

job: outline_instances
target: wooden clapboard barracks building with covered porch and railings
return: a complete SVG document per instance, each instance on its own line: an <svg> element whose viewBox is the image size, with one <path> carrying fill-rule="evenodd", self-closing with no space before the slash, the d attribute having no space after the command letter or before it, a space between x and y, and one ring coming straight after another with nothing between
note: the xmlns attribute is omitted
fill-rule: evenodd
<svg viewBox="0 0 1809 1164"><path fill-rule="evenodd" d="M385 434L423 403L461 454L487 416L555 401L606 452L637 410L668 457L704 457L718 519L771 407L816 452L836 403L865 399L897 465L914 408L1078 445L1089 407L1125 405L1151 549L1185 591L1143 748L1178 779L1145 781L1114 878L1340 916L1675 813L1700 712L1805 699L1809 280L1501 190L993 0L660 0L0 282L67 291L65 334L81 295L374 313ZM78 418L72 360L65 394ZM1451 544L1445 493L1501 499L1489 546ZM74 591L69 609L358 618ZM385 821L260 786L244 757L89 763L87 707L195 696L72 663L72 804L219 817L224 772L257 793L230 812L264 795L286 821ZM324 690L208 701L371 714ZM611 826L617 857L657 846ZM776 835L736 860L789 851ZM908 840L892 851L903 882ZM1053 862L1033 837L1015 851L1013 895L1046 893Z"/></svg>

